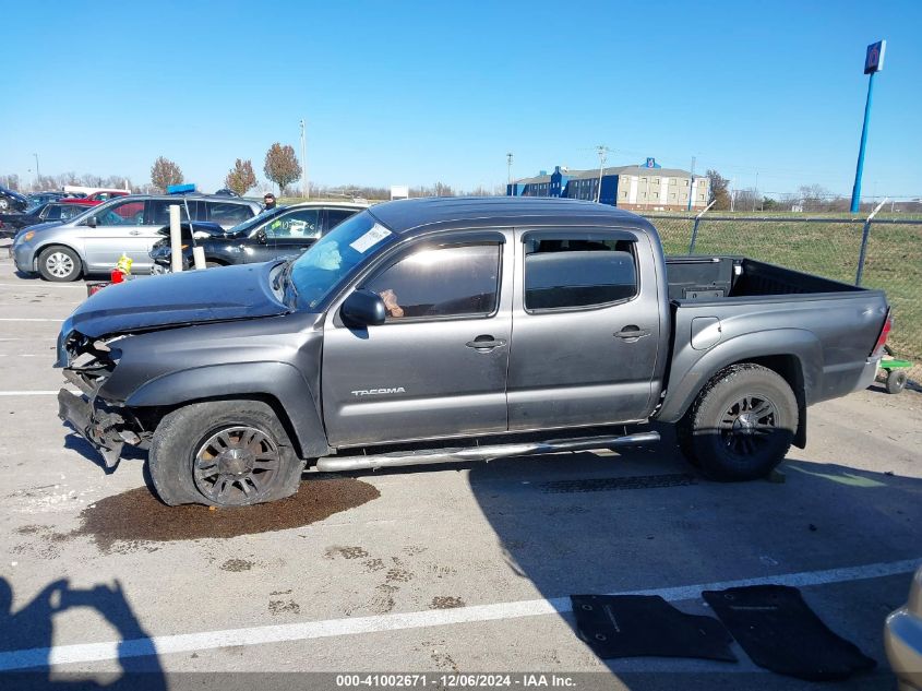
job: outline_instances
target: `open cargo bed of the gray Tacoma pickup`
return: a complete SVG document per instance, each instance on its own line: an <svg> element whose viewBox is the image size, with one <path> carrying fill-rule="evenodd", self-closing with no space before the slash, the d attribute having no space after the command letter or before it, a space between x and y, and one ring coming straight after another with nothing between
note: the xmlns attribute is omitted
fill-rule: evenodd
<svg viewBox="0 0 922 691"><path fill-rule="evenodd" d="M673 332L661 419L675 421L701 378L734 362L788 368L807 405L873 380L883 291L743 257L671 257L666 265Z"/></svg>

